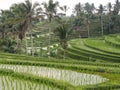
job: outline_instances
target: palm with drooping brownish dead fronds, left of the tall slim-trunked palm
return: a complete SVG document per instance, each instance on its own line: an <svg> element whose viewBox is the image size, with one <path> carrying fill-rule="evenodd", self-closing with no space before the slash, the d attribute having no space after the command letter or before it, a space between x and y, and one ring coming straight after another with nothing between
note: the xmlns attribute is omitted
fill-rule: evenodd
<svg viewBox="0 0 120 90"><path fill-rule="evenodd" d="M15 29L18 34L17 46L18 46L18 49L21 51L22 41L23 41L23 38L25 37L25 33L28 27L27 21L24 15L24 11L21 9L21 3L13 4L10 7L10 10L14 14L14 17L12 18L11 23L13 24L13 29Z"/></svg>

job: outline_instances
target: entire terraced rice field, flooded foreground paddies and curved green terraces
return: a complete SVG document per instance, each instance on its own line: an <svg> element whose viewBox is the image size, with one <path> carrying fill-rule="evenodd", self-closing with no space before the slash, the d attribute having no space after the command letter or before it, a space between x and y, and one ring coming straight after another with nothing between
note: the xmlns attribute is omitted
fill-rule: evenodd
<svg viewBox="0 0 120 90"><path fill-rule="evenodd" d="M118 37L71 40L65 60L0 53L0 90L120 90Z"/></svg>

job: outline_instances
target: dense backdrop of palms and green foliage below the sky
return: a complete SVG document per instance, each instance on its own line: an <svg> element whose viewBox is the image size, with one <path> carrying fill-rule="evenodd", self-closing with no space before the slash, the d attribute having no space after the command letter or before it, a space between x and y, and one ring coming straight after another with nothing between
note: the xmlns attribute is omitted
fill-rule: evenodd
<svg viewBox="0 0 120 90"><path fill-rule="evenodd" d="M59 9L64 13L59 13ZM70 28L73 28L73 32L70 38L120 33L120 2L118 0L114 5L108 3L107 6L100 5L98 8L88 2L84 5L78 3L75 5L71 16L66 16L68 9L67 6L62 7L59 2L53 0L42 4L33 4L29 0L13 4L9 10L1 10L1 40L4 42L9 37L15 41L17 44L14 52L19 52L21 48L25 49L29 45L32 54L34 54L33 47L39 46L39 43L42 42L43 45L41 46L44 46L47 43L50 45L57 42L58 39L55 39L56 35L53 31L61 19L72 23ZM37 35L39 38L36 38ZM5 45L5 47L11 48L12 45L10 47ZM13 52L9 49L7 51ZM22 52L25 50L22 49Z"/></svg>

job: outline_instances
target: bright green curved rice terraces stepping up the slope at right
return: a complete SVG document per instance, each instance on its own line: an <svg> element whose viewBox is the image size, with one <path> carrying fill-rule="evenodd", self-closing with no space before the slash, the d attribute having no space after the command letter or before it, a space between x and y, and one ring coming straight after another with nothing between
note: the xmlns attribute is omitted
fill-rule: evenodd
<svg viewBox="0 0 120 90"><path fill-rule="evenodd" d="M73 59L120 62L119 35L71 40L67 54Z"/></svg>

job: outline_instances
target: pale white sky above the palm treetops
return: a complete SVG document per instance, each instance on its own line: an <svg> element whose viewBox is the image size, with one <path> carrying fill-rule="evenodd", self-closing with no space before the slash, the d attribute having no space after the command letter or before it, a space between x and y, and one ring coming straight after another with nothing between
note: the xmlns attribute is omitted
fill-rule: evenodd
<svg viewBox="0 0 120 90"><path fill-rule="evenodd" d="M25 0L0 0L0 9L9 9L9 7L13 3L20 3L24 2ZM32 2L48 2L48 0L31 0ZM56 0L53 0L56 1ZM98 7L100 4L106 5L108 2L111 2L112 4L115 3L116 0L57 0L61 6L67 5L69 7L69 10L67 11L67 15L70 15L72 13L72 10L77 3L84 4L86 2L94 3L96 7Z"/></svg>

